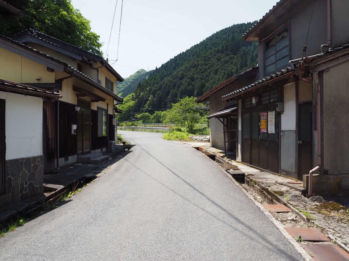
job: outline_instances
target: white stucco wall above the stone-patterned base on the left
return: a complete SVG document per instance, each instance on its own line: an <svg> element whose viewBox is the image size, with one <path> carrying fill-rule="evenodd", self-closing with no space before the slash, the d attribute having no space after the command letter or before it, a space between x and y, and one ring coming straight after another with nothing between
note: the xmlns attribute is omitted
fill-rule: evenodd
<svg viewBox="0 0 349 261"><path fill-rule="evenodd" d="M6 160L43 155L43 100L0 92L6 100Z"/></svg>

